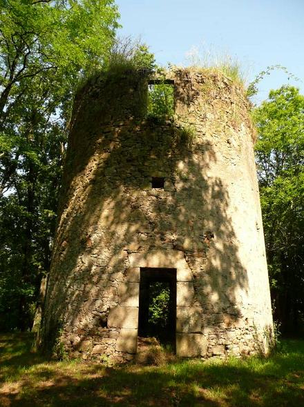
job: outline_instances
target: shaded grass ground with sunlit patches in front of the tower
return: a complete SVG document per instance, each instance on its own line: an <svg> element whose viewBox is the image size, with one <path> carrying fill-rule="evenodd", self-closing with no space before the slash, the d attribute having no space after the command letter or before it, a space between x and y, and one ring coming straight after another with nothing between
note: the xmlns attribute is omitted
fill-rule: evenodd
<svg viewBox="0 0 304 407"><path fill-rule="evenodd" d="M304 406L304 341L268 359L105 367L48 361L30 334L0 336L0 406Z"/></svg>

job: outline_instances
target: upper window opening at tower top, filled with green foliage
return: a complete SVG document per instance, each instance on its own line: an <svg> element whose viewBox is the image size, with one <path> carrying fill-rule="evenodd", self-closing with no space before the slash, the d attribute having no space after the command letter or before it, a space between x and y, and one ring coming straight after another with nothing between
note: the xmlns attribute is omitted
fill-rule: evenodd
<svg viewBox="0 0 304 407"><path fill-rule="evenodd" d="M148 115L153 117L173 117L174 115L174 82L164 79L149 81Z"/></svg>

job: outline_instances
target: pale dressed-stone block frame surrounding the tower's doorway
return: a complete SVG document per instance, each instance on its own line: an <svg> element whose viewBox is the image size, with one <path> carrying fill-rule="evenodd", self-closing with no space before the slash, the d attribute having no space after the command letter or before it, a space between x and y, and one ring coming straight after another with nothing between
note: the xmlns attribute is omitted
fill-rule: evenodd
<svg viewBox="0 0 304 407"><path fill-rule="evenodd" d="M120 328L116 350L137 352L140 268L176 269L176 354L180 357L205 355L207 340L202 335L202 307L194 306L193 275L184 252L151 250L129 254L130 268L118 287L118 305L108 315L108 327Z"/></svg>

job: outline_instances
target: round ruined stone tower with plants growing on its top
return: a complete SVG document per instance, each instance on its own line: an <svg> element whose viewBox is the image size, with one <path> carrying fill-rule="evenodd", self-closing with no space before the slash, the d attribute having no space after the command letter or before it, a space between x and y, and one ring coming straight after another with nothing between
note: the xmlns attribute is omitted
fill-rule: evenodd
<svg viewBox="0 0 304 407"><path fill-rule="evenodd" d="M108 73L77 95L43 344L131 359L144 290L167 281L177 355L267 351L272 312L244 92L215 72L175 70L162 81L174 92L174 118L164 119L146 115L149 81Z"/></svg>

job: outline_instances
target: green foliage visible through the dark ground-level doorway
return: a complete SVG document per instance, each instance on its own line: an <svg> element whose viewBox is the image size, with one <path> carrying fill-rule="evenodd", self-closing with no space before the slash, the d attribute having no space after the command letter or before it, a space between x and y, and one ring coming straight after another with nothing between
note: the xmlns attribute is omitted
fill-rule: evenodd
<svg viewBox="0 0 304 407"><path fill-rule="evenodd" d="M149 288L149 323L166 327L169 320L169 284L155 282Z"/></svg>

